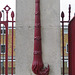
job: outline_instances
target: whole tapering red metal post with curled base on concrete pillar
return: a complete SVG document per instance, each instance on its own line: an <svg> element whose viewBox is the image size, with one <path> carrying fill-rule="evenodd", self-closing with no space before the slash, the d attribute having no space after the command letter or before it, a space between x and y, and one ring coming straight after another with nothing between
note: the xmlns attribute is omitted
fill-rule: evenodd
<svg viewBox="0 0 75 75"><path fill-rule="evenodd" d="M43 69L41 48L41 23L40 23L40 0L35 0L35 34L34 34L34 58L32 70L36 75L48 75L49 65Z"/></svg>

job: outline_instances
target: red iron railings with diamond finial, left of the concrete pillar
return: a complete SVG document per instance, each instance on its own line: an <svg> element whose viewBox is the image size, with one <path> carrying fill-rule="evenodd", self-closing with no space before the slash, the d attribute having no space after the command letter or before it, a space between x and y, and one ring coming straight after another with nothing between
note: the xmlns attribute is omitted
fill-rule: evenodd
<svg viewBox="0 0 75 75"><path fill-rule="evenodd" d="M13 32L13 27L14 27L14 12L12 11L11 12L11 18L12 18L12 20L11 21L9 21L9 10L10 10L11 8L8 6L8 5L6 5L5 7L4 7L4 11L6 12L6 20L3 20L3 21L1 21L2 20L2 12L0 12L0 75L1 75L1 39L2 39L2 37L1 37L1 34L2 34L2 31L1 31L1 28L3 27L3 29L5 28L5 35L4 35L4 33L3 33L3 36L5 36L5 45L6 45L6 47L5 47L5 75L8 75L8 40L10 40L10 39L8 39L8 28L9 28L9 23L12 23L12 55L11 55L11 75L13 75L13 34L14 34L14 32ZM4 13L4 12L3 12ZM2 26L3 25L3 26ZM4 38L3 38L3 40L4 40ZM4 47L3 47L4 48ZM4 75L4 74L3 74Z"/></svg>

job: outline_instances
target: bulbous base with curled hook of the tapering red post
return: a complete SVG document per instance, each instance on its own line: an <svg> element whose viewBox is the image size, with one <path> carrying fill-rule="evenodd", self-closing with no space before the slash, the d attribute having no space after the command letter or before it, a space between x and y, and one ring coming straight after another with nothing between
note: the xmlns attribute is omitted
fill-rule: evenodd
<svg viewBox="0 0 75 75"><path fill-rule="evenodd" d="M50 68L49 65L43 68L43 63L37 61L32 65L32 70L36 75L48 75Z"/></svg>

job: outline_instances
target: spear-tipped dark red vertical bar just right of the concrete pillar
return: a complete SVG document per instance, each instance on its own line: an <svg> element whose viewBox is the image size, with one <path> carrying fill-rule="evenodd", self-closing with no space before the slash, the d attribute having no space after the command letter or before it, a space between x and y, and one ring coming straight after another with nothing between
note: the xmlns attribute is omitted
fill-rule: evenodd
<svg viewBox="0 0 75 75"><path fill-rule="evenodd" d="M62 17L62 52L63 52L63 75L64 75L64 12L61 13Z"/></svg>

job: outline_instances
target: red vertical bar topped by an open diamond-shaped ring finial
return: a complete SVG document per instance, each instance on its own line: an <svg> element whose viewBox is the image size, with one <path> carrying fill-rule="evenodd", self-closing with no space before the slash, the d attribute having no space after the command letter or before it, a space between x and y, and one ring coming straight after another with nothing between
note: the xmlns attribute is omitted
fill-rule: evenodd
<svg viewBox="0 0 75 75"><path fill-rule="evenodd" d="M8 9L7 9L8 8ZM6 5L4 10L6 11L6 24L5 24L5 27L6 27L6 56L5 56L5 75L8 75L8 11L10 10L11 8Z"/></svg>

